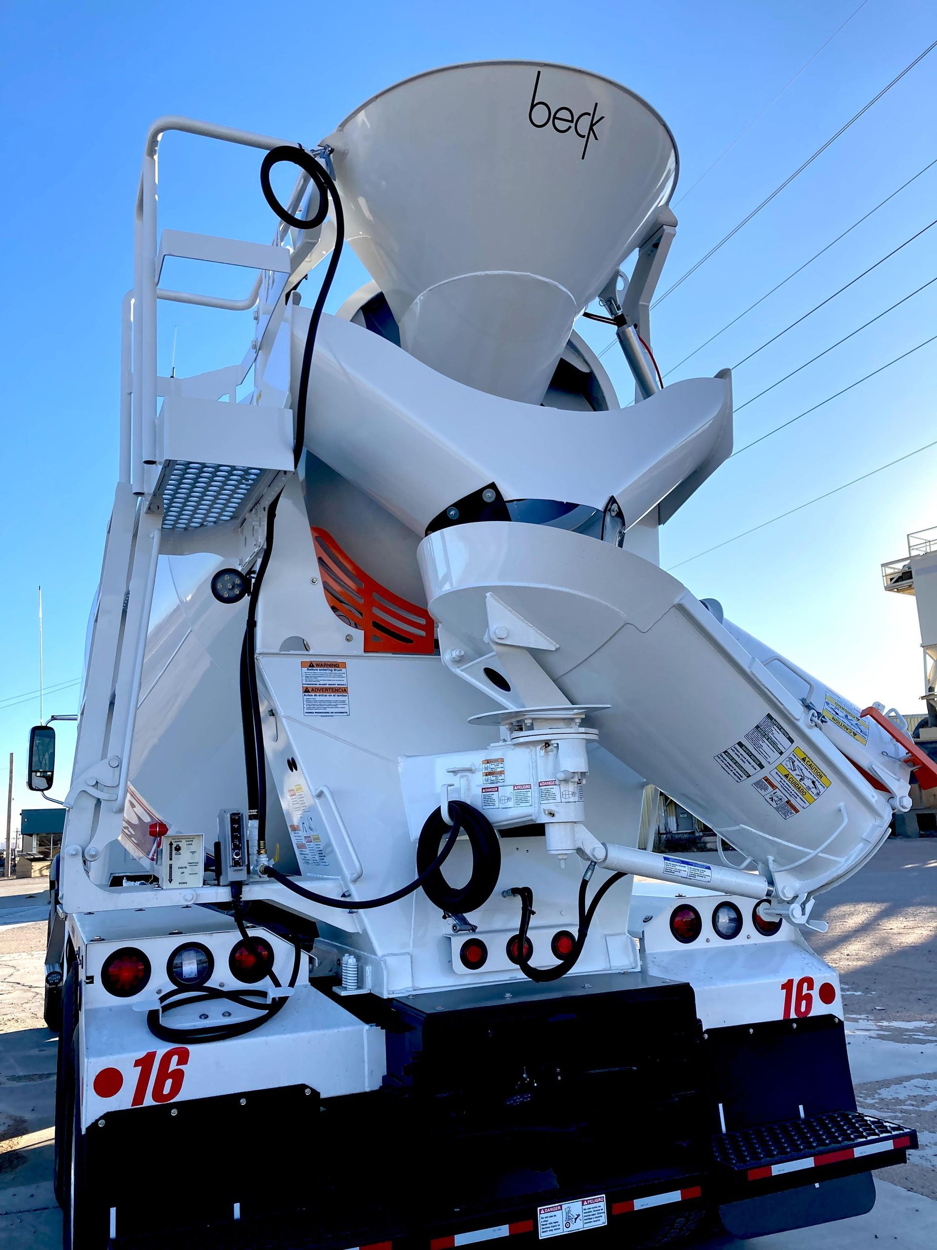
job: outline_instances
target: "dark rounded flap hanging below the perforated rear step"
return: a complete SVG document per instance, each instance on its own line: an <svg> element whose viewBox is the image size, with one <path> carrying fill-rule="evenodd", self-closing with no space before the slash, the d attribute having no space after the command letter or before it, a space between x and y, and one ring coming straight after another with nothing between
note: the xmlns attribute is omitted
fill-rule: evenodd
<svg viewBox="0 0 937 1250"><path fill-rule="evenodd" d="M761 1194L720 1206L720 1219L733 1238L763 1238L813 1224L830 1224L851 1215L866 1215L876 1201L871 1172L801 1185L781 1194Z"/></svg>

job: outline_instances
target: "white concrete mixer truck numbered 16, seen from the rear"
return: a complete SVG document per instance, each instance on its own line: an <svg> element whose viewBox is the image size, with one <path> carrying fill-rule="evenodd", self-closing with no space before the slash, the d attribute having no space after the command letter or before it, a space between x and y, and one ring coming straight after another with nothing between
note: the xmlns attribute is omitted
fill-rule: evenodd
<svg viewBox="0 0 937 1250"><path fill-rule="evenodd" d="M161 228L170 131L256 150L271 241ZM149 131L46 956L72 1250L755 1236L916 1146L857 1110L805 931L931 761L660 568L732 446L730 372L650 348L677 170L648 104L541 62L314 148ZM342 248L371 280L327 314ZM242 359L161 375L161 301L252 311ZM656 788L718 860L653 850Z"/></svg>

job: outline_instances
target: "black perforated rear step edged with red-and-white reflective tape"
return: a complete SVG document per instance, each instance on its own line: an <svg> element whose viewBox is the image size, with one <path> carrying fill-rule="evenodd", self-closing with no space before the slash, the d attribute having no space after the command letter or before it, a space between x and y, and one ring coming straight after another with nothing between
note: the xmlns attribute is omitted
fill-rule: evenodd
<svg viewBox="0 0 937 1250"><path fill-rule="evenodd" d="M806 1120L726 1132L713 1138L712 1149L717 1165L756 1181L867 1155L916 1150L917 1134L861 1111L826 1111Z"/></svg>

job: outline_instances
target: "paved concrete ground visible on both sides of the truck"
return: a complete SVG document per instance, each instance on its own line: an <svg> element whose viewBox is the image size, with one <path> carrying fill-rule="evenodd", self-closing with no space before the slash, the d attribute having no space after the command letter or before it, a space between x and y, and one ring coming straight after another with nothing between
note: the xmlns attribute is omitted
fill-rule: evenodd
<svg viewBox="0 0 937 1250"><path fill-rule="evenodd" d="M918 1130L922 1149L876 1174L868 1215L692 1250L937 1248L937 841L892 839L821 898L815 949L842 976L860 1106ZM55 1040L42 1024L45 882L0 881L0 1248L56 1250L51 1186ZM880 1245L876 1246L875 1242ZM690 1250L690 1248L688 1248Z"/></svg>

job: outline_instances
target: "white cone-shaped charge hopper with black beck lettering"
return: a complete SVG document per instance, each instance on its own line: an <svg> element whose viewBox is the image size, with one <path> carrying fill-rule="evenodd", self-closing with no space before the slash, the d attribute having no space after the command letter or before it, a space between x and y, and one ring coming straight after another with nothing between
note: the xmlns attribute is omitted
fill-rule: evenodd
<svg viewBox="0 0 937 1250"><path fill-rule="evenodd" d="M673 136L650 105L542 61L407 79L325 142L349 242L401 345L457 381L532 404L575 318L677 180Z"/></svg>

